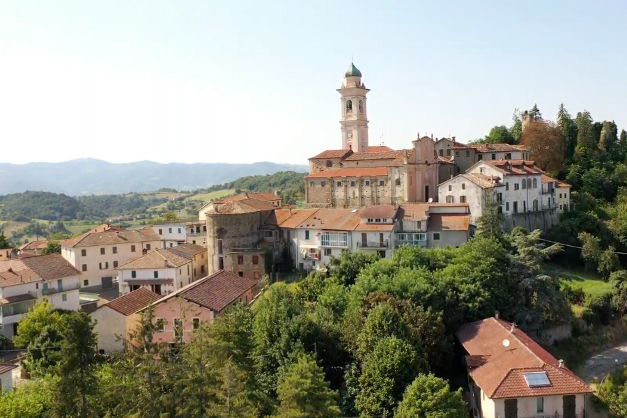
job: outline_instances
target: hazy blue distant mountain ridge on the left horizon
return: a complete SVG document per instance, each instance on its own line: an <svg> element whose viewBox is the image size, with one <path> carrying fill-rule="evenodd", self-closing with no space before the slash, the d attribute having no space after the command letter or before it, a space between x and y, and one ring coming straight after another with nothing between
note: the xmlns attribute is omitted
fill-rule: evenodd
<svg viewBox="0 0 627 418"><path fill-rule="evenodd" d="M40 190L83 196L149 192L162 187L194 190L227 183L242 176L277 171L306 173L308 169L306 165L274 162L161 164L139 161L117 164L93 158L54 163L0 163L0 194Z"/></svg>

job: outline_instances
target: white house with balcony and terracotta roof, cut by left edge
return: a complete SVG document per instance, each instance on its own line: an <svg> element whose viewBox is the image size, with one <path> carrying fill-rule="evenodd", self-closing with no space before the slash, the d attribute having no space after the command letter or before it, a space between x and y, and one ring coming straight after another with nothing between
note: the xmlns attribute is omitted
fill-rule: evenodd
<svg viewBox="0 0 627 418"><path fill-rule="evenodd" d="M36 302L77 311L81 273L59 254L0 261L0 327L17 334L17 323Z"/></svg>

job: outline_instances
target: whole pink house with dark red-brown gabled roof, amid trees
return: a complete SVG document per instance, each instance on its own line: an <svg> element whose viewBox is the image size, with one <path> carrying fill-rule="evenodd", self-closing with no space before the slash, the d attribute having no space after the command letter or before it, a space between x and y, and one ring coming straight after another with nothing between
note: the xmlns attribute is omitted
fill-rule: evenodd
<svg viewBox="0 0 627 418"><path fill-rule="evenodd" d="M220 270L153 302L155 325L160 330L154 334L155 342L189 341L201 321L213 320L237 302L251 302L256 284Z"/></svg>

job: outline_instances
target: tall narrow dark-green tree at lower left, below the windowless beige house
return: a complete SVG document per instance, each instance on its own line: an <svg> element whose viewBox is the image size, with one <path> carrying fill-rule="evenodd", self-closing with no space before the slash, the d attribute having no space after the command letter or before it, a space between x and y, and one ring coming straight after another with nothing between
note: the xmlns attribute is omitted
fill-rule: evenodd
<svg viewBox="0 0 627 418"><path fill-rule="evenodd" d="M56 373L53 409L58 417L91 416L88 399L98 392L96 366L98 339L93 332L95 323L84 311L61 317L61 351Z"/></svg>

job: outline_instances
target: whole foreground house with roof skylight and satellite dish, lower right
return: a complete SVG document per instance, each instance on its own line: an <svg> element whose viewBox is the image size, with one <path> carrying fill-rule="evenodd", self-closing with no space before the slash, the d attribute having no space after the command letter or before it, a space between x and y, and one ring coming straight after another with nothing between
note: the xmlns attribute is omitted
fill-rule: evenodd
<svg viewBox="0 0 627 418"><path fill-rule="evenodd" d="M487 318L463 325L473 417L586 417L592 389L516 325Z"/></svg>

